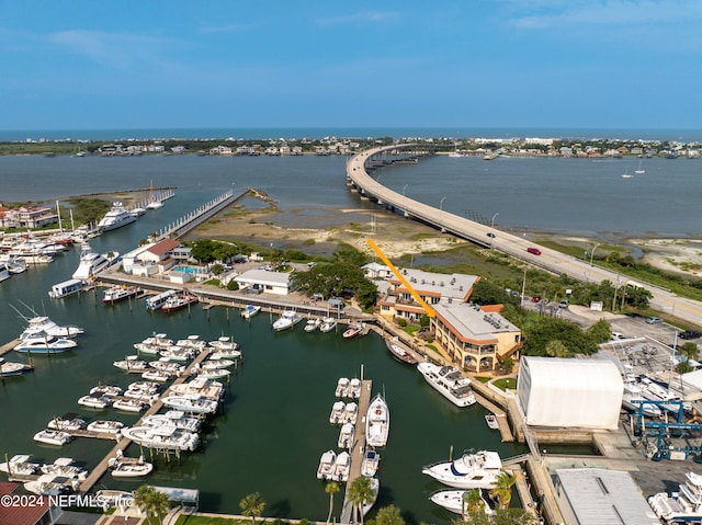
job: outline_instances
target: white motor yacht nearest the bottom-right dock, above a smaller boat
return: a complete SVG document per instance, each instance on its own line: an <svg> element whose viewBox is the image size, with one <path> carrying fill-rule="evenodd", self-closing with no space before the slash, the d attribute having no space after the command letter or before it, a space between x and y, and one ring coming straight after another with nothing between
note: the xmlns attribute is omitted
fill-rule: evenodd
<svg viewBox="0 0 702 525"><path fill-rule="evenodd" d="M458 459L428 465L421 471L456 489L494 489L501 468L498 453L468 450Z"/></svg>

